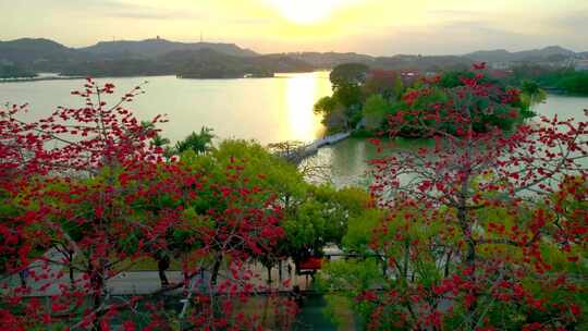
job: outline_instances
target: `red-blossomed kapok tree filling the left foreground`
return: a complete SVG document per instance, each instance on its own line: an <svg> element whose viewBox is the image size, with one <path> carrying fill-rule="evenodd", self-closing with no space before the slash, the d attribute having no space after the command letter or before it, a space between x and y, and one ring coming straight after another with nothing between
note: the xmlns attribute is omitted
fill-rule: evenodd
<svg viewBox="0 0 588 331"><path fill-rule="evenodd" d="M125 107L142 87L114 106L106 102L112 99L112 84L87 79L84 87L73 95L85 106L59 108L36 122L19 120L26 107L0 111L1 328L154 330L177 321L187 328L257 326L255 319L244 323L238 309L247 307L231 305L256 289L246 262L281 236L279 208L246 185L232 185L238 174L231 170L225 182L209 185L222 208L195 213L192 206L207 174L167 160L149 144L161 118L142 125ZM134 261L157 259L177 246L194 248L187 252L194 263L185 263L185 283L139 290L140 296L118 296L108 285ZM228 260L223 275L233 275L219 282L209 278L204 282L208 291L195 289L196 277L210 272L219 255ZM16 285L15 274L25 270L27 282ZM167 310L161 294L182 285L185 308Z"/></svg>

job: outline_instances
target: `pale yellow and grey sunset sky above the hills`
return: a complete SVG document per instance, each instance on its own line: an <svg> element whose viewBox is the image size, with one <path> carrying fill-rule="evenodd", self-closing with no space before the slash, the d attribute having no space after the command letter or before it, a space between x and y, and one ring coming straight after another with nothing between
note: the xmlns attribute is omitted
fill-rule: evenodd
<svg viewBox="0 0 588 331"><path fill-rule="evenodd" d="M0 0L0 40L161 38L261 53L588 51L588 0Z"/></svg>

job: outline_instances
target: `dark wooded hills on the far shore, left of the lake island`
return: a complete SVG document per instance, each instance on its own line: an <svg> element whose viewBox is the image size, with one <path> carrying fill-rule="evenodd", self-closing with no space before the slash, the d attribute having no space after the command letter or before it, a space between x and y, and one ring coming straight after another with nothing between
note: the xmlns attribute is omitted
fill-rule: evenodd
<svg viewBox="0 0 588 331"><path fill-rule="evenodd" d="M232 44L184 44L164 39L99 42L82 49L47 39L0 41L0 64L4 78L29 77L40 72L70 76L235 78L315 69L285 54L261 56Z"/></svg>

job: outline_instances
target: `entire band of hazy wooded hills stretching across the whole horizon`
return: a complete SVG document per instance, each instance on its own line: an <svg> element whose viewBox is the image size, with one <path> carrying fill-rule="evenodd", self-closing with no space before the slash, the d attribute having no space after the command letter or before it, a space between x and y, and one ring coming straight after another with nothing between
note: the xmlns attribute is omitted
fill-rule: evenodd
<svg viewBox="0 0 588 331"><path fill-rule="evenodd" d="M479 51L464 56L372 57L359 53L290 52L259 54L234 44L175 42L161 38L140 41L101 41L85 48L69 48L48 39L23 38L0 41L3 77L30 73L64 75L137 76L177 75L193 78L271 76L275 72L330 70L343 63L363 63L387 70L466 70L474 61L500 63L564 63L580 58L560 47L509 52ZM559 65L558 64L558 65Z"/></svg>

